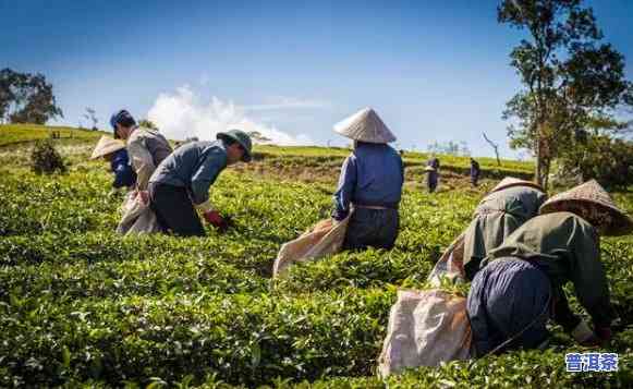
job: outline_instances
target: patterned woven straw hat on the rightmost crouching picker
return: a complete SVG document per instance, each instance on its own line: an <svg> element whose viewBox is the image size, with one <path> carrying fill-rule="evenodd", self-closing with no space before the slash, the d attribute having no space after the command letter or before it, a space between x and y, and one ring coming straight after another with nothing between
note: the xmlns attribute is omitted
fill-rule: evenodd
<svg viewBox="0 0 633 389"><path fill-rule="evenodd" d="M558 211L577 214L605 235L624 235L633 231L633 220L616 206L596 180L552 196L539 209L541 215Z"/></svg>

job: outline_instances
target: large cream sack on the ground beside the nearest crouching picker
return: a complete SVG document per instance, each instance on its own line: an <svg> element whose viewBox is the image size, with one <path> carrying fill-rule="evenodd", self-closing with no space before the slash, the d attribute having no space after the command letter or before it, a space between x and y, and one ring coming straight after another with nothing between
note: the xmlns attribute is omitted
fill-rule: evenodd
<svg viewBox="0 0 633 389"><path fill-rule="evenodd" d="M467 360L471 342L465 297L439 289L402 290L391 307L378 370L387 377L404 368Z"/></svg>

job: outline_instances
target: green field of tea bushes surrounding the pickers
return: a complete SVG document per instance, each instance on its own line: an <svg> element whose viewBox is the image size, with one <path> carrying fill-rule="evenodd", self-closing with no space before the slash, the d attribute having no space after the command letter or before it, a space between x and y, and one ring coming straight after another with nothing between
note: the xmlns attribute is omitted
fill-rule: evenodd
<svg viewBox="0 0 633 389"><path fill-rule="evenodd" d="M0 387L633 386L632 236L601 242L624 321L605 349L619 354L619 372L567 373L565 352L584 350L555 327L546 352L376 376L398 288L423 285L478 198L527 163L486 161L489 179L473 190L460 175L467 160L454 158L445 190L428 195L425 156L405 155L393 251L341 253L272 281L279 246L329 216L345 150L260 147L211 189L233 215L228 233L122 239L122 196L107 195L107 166L87 160L95 138L56 141L69 173L36 175L24 136L0 139ZM614 197L633 211L632 193Z"/></svg>

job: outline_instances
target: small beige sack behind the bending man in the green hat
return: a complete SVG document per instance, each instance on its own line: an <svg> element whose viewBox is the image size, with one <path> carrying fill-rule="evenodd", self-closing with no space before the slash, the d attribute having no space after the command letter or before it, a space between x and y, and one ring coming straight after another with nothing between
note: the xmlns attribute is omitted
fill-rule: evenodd
<svg viewBox="0 0 633 389"><path fill-rule="evenodd" d="M129 234L155 233L160 231L156 214L145 204L137 192L130 192L121 207L123 218L117 226L117 232Z"/></svg>

